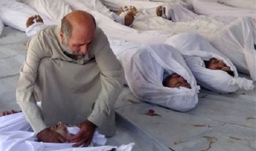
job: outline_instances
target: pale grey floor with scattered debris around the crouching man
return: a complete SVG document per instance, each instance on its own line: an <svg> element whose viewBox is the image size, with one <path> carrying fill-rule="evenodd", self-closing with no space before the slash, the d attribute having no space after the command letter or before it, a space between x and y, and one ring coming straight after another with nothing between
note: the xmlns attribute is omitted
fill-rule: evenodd
<svg viewBox="0 0 256 151"><path fill-rule="evenodd" d="M4 27L0 37L0 112L19 110L15 89L27 40L24 32ZM255 90L221 95L201 89L197 107L181 113L139 101L129 88L123 88L115 108L117 132L107 144L135 142L133 150L256 150ZM159 115L145 115L149 109Z"/></svg>

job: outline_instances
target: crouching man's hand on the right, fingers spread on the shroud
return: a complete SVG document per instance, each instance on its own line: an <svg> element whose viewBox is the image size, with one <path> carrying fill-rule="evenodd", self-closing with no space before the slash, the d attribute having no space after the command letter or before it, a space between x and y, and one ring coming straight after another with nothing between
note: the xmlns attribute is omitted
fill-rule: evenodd
<svg viewBox="0 0 256 151"><path fill-rule="evenodd" d="M89 146L92 136L94 135L96 125L91 123L91 121L86 120L77 126L80 127L81 130L77 133L77 135L71 138L71 142L75 143L73 147L78 147L81 145L84 145L84 147Z"/></svg>

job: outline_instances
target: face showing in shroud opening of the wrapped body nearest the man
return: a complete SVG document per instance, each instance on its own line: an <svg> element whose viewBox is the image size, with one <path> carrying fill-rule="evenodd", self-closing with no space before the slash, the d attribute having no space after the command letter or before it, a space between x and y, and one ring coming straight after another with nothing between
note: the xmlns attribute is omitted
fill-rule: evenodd
<svg viewBox="0 0 256 151"><path fill-rule="evenodd" d="M181 75L177 73L173 73L170 75L171 78L167 82L167 86L169 88L179 88L179 86L183 86L185 88L191 89L190 84L185 80Z"/></svg>

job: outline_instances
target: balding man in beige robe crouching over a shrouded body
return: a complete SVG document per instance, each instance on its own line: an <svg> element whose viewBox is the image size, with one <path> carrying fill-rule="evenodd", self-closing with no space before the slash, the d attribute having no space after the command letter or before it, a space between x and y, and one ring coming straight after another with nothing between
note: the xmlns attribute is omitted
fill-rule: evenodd
<svg viewBox="0 0 256 151"><path fill-rule="evenodd" d="M113 106L122 77L104 32L91 14L76 10L29 40L17 103L40 141L66 142L48 128L62 121L80 127L71 138L75 147L88 146L96 127L106 136L115 133Z"/></svg>

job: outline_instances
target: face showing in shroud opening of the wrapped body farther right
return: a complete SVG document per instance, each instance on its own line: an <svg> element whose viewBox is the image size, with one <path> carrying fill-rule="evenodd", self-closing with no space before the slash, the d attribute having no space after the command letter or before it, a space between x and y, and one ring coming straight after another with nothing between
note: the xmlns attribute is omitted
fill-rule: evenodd
<svg viewBox="0 0 256 151"><path fill-rule="evenodd" d="M224 63L224 61L216 59L215 57L211 58L208 63L209 69L219 69L222 71L231 71L230 67Z"/></svg>

